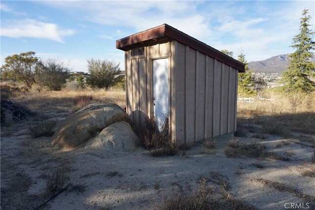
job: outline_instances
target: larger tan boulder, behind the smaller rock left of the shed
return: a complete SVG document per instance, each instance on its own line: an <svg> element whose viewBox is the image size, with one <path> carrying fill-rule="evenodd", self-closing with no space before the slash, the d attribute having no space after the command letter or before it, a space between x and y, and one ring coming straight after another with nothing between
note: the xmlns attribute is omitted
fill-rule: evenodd
<svg viewBox="0 0 315 210"><path fill-rule="evenodd" d="M64 120L53 137L52 145L75 148L98 135L108 125L120 121L131 124L126 112L118 105L90 104Z"/></svg>

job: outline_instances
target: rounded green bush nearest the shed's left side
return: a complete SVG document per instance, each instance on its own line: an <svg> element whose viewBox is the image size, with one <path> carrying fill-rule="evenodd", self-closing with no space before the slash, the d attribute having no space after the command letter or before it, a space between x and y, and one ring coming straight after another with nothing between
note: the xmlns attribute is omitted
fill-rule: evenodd
<svg viewBox="0 0 315 210"><path fill-rule="evenodd" d="M90 75L87 78L87 83L94 88L108 90L124 78L119 63L114 61L88 60L88 70Z"/></svg>

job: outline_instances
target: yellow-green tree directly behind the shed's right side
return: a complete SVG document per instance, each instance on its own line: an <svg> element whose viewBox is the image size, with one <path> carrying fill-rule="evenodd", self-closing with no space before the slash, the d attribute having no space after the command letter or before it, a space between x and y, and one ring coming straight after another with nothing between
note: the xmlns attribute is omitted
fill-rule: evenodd
<svg viewBox="0 0 315 210"><path fill-rule="evenodd" d="M251 97L257 94L255 88L255 77L253 71L249 69L245 54L241 52L237 60L245 64L245 72L238 74L238 94L240 96Z"/></svg>

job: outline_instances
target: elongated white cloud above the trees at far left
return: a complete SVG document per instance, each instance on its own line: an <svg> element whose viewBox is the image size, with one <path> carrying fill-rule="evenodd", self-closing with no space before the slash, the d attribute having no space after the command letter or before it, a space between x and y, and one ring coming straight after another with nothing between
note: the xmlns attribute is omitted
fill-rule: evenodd
<svg viewBox="0 0 315 210"><path fill-rule="evenodd" d="M7 22L4 26L1 26L0 31L1 36L51 39L62 43L63 36L70 36L74 33L74 30L62 30L56 24L39 22L33 19Z"/></svg>

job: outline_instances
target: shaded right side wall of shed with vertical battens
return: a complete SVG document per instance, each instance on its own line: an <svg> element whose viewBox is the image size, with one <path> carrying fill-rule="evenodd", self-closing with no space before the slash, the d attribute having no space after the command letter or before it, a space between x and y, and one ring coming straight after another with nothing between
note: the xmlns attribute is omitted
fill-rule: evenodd
<svg viewBox="0 0 315 210"><path fill-rule="evenodd" d="M235 131L236 69L175 41L174 72L180 144Z"/></svg>

